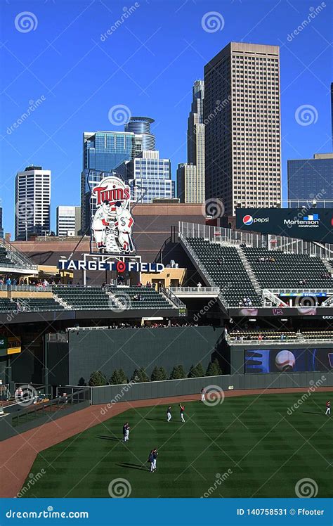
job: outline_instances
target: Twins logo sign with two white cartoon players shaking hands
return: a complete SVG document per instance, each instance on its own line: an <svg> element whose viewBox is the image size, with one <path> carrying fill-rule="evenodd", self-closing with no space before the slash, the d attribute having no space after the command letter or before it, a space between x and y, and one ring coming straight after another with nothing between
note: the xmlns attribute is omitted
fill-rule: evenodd
<svg viewBox="0 0 333 526"><path fill-rule="evenodd" d="M96 212L91 219L91 241L105 254L131 254L134 224L130 212L131 188L120 177L105 177L93 188L91 201Z"/></svg>

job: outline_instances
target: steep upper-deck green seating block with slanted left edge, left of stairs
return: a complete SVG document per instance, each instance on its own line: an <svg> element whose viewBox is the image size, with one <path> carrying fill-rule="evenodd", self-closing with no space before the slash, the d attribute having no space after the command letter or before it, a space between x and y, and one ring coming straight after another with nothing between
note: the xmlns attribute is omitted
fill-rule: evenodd
<svg viewBox="0 0 333 526"><path fill-rule="evenodd" d="M249 297L256 307L262 304L236 248L201 238L187 238L186 241L204 268L209 285L219 286L230 306L238 306L243 297Z"/></svg>

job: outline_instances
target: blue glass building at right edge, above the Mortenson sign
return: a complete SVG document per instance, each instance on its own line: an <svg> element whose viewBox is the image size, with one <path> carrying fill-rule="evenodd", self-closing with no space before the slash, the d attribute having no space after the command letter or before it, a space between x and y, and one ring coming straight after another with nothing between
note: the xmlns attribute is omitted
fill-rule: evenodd
<svg viewBox="0 0 333 526"><path fill-rule="evenodd" d="M313 159L288 160L288 206L333 205L333 153L315 153Z"/></svg>

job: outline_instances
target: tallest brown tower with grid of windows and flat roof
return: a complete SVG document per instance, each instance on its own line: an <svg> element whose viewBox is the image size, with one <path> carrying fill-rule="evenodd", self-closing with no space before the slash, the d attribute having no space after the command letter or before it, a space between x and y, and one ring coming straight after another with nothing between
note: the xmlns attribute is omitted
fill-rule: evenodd
<svg viewBox="0 0 333 526"><path fill-rule="evenodd" d="M278 46L230 42L204 67L206 198L226 214L281 201Z"/></svg>

